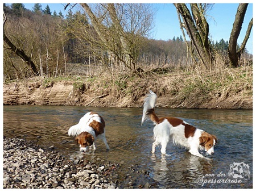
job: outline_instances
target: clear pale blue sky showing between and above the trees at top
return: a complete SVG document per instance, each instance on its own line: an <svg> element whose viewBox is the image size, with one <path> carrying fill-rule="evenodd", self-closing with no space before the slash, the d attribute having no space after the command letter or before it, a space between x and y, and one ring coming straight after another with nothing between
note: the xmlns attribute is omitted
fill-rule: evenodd
<svg viewBox="0 0 256 192"><path fill-rule="evenodd" d="M34 3L24 3L24 5L26 9L32 9ZM64 11L65 3L41 3L41 5L43 9L46 5L49 5L51 11L56 11L57 14L59 11L61 11L63 15L67 14L67 11ZM182 35L174 5L172 3L154 3L153 6L156 8L156 15L152 39L168 40L172 39L174 36L177 37ZM229 40L237 7L238 3L215 3L212 9L208 11L210 38L212 40L219 41L222 38L225 41ZM240 37L238 38L239 44L242 43L247 26L252 17L253 4L250 3L247 7ZM253 30L251 31L250 38L247 41L246 48L250 53L253 53Z"/></svg>

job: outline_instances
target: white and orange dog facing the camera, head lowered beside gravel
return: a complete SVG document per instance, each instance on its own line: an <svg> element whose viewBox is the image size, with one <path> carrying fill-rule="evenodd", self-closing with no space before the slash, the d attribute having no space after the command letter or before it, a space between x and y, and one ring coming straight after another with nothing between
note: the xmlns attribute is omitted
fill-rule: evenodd
<svg viewBox="0 0 256 192"><path fill-rule="evenodd" d="M86 113L79 121L78 124L72 126L68 130L69 136L76 136L76 143L80 145L80 151L88 151L89 146L93 145L96 149L96 139L102 139L109 149L109 145L105 137L105 121L95 112Z"/></svg>

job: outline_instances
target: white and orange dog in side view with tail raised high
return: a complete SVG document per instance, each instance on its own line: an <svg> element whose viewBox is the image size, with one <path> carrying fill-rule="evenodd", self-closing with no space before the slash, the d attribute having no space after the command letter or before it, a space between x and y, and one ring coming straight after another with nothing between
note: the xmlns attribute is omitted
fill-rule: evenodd
<svg viewBox="0 0 256 192"><path fill-rule="evenodd" d="M147 97L144 99L144 108L142 116L142 124L146 119L151 119L154 122L154 140L152 145L152 153L155 153L156 145L161 145L161 153L166 154L166 147L170 140L174 144L179 144L187 149L192 155L203 157L199 150L205 150L209 155L214 154L214 145L217 143L217 138L214 135L200 130L184 122L184 120L163 117L158 118L155 114L156 94L150 90Z"/></svg>

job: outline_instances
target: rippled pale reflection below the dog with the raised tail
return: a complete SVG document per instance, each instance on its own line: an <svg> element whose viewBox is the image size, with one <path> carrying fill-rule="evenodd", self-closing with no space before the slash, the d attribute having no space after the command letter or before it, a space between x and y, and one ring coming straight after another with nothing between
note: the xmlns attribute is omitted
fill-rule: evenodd
<svg viewBox="0 0 256 192"><path fill-rule="evenodd" d="M186 153L183 159L177 161L175 157L161 155L161 158L151 155L154 162L152 177L163 186L176 183L180 187L188 187L189 185L197 186L197 178L203 174L212 173L212 158L201 158ZM190 186L191 187L191 186Z"/></svg>

